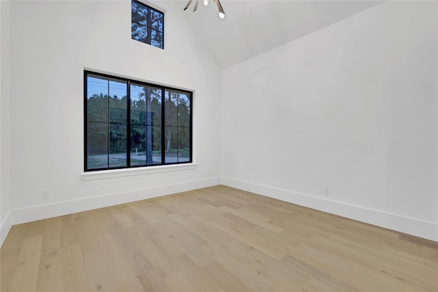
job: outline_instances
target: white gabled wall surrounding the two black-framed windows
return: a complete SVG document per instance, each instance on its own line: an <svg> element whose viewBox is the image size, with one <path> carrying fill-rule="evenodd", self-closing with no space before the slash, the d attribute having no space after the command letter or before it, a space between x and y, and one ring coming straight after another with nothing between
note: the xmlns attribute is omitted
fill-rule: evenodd
<svg viewBox="0 0 438 292"><path fill-rule="evenodd" d="M131 40L131 1L12 1L12 224L220 183L220 70L183 3L152 4L165 50ZM196 90L196 168L83 180L84 68Z"/></svg>

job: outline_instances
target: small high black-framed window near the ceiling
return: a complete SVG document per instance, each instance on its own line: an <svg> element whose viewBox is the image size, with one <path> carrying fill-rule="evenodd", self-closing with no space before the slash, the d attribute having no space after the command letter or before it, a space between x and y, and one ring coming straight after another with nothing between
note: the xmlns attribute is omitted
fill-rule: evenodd
<svg viewBox="0 0 438 292"><path fill-rule="evenodd" d="M131 38L164 49L164 13L132 0Z"/></svg>

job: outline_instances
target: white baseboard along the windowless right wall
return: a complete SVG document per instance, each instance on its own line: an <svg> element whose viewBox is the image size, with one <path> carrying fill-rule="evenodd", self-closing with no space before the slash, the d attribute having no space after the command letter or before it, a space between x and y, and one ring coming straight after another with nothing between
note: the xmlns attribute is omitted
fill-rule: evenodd
<svg viewBox="0 0 438 292"><path fill-rule="evenodd" d="M327 200L315 196L308 196L285 189L268 187L266 185L257 185L246 181L238 181L233 178L222 177L222 185L235 187L244 191L250 191L255 194L275 198L285 202L298 204L319 211L332 213L353 220L358 220L368 224L381 226L401 233L415 235L425 239L438 241L438 224L417 220L415 218L405 217L402 215L386 213L374 209L368 209L352 204Z"/></svg>

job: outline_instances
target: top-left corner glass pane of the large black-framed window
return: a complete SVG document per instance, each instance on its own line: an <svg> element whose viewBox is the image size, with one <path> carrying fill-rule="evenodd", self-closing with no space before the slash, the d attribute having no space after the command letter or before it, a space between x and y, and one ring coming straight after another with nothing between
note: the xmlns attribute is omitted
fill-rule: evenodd
<svg viewBox="0 0 438 292"><path fill-rule="evenodd" d="M108 121L108 81L107 79L87 78L87 119L89 122Z"/></svg>

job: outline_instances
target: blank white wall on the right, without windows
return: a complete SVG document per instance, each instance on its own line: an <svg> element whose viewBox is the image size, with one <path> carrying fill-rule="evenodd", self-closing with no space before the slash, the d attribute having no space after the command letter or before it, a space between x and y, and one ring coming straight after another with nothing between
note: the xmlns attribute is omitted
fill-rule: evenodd
<svg viewBox="0 0 438 292"><path fill-rule="evenodd" d="M437 51L389 1L224 70L223 183L437 241Z"/></svg>

